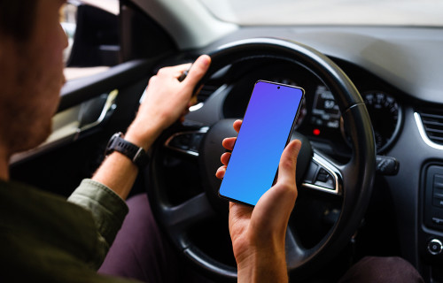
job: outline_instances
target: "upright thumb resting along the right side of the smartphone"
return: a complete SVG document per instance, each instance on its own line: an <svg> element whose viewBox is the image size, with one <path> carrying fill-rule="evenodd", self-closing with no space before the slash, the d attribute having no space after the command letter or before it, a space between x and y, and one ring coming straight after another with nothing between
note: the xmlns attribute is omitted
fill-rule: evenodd
<svg viewBox="0 0 443 283"><path fill-rule="evenodd" d="M280 164L278 164L278 179L277 183L293 185L295 184L295 168L297 166L297 157L301 149L301 142L294 140L290 142L280 157Z"/></svg>

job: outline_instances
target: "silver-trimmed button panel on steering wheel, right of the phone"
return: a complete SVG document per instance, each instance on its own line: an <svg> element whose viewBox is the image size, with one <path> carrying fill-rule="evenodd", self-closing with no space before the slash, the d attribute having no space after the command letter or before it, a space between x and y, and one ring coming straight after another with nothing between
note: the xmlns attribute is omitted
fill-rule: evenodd
<svg viewBox="0 0 443 283"><path fill-rule="evenodd" d="M314 156L301 187L330 195L342 195L343 178L339 168L340 166L329 157L314 150Z"/></svg>

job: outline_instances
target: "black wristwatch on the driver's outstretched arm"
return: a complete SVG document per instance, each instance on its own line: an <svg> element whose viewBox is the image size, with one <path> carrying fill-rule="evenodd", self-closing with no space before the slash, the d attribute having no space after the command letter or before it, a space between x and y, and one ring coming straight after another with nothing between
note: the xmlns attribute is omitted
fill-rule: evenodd
<svg viewBox="0 0 443 283"><path fill-rule="evenodd" d="M113 151L118 151L127 156L139 168L143 168L148 164L148 154L143 148L137 147L134 143L123 139L122 133L113 134L106 146L105 156L110 155Z"/></svg>

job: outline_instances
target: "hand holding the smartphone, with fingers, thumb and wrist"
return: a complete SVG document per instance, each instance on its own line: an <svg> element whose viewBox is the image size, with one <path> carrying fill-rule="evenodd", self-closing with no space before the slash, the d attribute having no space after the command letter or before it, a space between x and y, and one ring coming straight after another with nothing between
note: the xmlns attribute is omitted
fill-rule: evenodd
<svg viewBox="0 0 443 283"><path fill-rule="evenodd" d="M241 120L234 122L237 133ZM237 138L222 142L232 150ZM290 142L280 159L276 184L261 196L253 207L229 203L229 233L237 261L238 282L286 282L287 267L284 254L286 227L297 199L295 168L301 142ZM229 163L230 153L221 156L216 176L222 179ZM257 280L256 280L257 279Z"/></svg>

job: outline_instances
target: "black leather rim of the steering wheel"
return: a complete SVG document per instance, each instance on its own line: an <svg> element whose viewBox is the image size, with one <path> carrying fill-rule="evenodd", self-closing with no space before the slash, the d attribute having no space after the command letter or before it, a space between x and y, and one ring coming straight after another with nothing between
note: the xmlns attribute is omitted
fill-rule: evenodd
<svg viewBox="0 0 443 283"><path fill-rule="evenodd" d="M322 53L298 42L274 38L249 39L221 46L209 55L212 58L212 64L198 86L204 84L223 66L251 58L276 58L302 65L314 73L330 88L338 103L348 133L350 133L353 155L347 164L337 164L330 161L331 166L341 172L342 187L340 188L343 197L340 217L330 229L330 233L311 249L304 249L297 241L297 237L291 238L292 248L289 253L290 258L287 259L288 269L296 276L303 276L312 267L328 262L331 256L336 255L339 250L345 247L360 225L361 218L368 206L376 167L376 149L368 111L352 81L337 65ZM183 234L186 233L185 230L190 226L190 223L198 222L216 212L205 194L198 195L190 202L178 206L171 206L167 202L167 197L162 192L161 182L158 180L158 176L161 174L161 155L158 154L159 150L155 150L155 148L162 146L163 142L154 146L150 166L151 176L156 176L151 179L152 184L148 189L154 216L175 246L181 249L191 262L219 278L236 279L235 268L221 264L214 258L207 256ZM299 166L297 170L299 172ZM187 209L182 210L182 206L186 206ZM184 222L180 219L183 218L182 214L187 214L184 217L186 218Z"/></svg>

